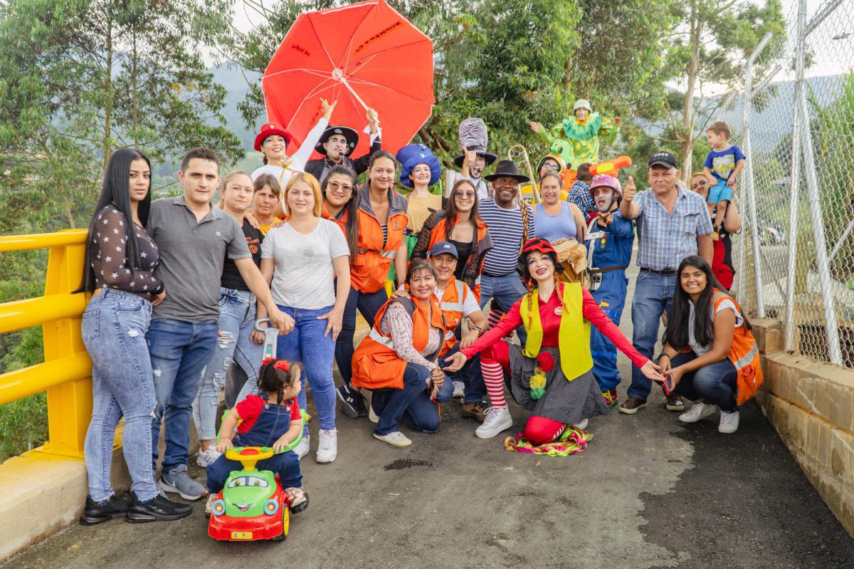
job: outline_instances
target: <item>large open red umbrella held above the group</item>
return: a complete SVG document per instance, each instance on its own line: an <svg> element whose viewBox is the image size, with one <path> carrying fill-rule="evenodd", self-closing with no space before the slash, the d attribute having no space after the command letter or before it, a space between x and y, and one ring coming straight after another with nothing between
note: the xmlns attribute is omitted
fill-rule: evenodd
<svg viewBox="0 0 854 569"><path fill-rule="evenodd" d="M383 148L409 144L430 118L433 42L384 0L299 15L261 79L267 120L286 125L292 154L321 116L320 99L338 104L331 124L363 132L377 110ZM354 156L368 151L360 135Z"/></svg>

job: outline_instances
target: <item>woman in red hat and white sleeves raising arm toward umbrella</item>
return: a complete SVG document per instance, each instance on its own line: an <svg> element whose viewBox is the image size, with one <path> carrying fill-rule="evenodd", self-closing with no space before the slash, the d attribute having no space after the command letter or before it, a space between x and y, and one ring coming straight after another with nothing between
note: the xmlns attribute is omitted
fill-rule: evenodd
<svg viewBox="0 0 854 569"><path fill-rule="evenodd" d="M305 172L306 163L308 157L312 155L314 145L318 144L326 126L329 126L336 103L327 103L325 99L320 99L320 104L323 108L323 116L318 119L318 123L312 130L308 131L306 139L293 155L289 156L286 153L293 137L282 124L267 122L261 125L258 136L255 137L254 149L264 155L264 166L254 170L252 179L258 179L262 174L272 174L275 179L278 179L278 184L283 190L282 203L279 203L273 211L273 214L278 217L284 217L284 188L288 180L297 172Z"/></svg>

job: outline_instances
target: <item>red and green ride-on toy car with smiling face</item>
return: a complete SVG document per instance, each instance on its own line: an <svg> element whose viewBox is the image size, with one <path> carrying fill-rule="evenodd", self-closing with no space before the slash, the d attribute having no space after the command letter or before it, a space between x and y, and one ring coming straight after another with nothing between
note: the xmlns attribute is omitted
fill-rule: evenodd
<svg viewBox="0 0 854 569"><path fill-rule="evenodd" d="M225 453L243 470L231 472L213 502L208 536L227 541L281 541L288 537L290 502L275 473L255 464L273 455L267 447L235 447Z"/></svg>

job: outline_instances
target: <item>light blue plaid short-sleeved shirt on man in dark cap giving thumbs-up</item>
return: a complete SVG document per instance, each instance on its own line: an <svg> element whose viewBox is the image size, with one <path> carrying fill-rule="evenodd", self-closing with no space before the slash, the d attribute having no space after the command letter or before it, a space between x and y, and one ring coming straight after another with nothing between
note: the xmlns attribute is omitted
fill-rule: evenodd
<svg viewBox="0 0 854 569"><path fill-rule="evenodd" d="M705 200L698 193L680 186L673 214L652 189L639 191L635 203L640 208L638 228L638 267L653 271L676 270L682 259L697 255L697 238L711 233L711 219Z"/></svg>

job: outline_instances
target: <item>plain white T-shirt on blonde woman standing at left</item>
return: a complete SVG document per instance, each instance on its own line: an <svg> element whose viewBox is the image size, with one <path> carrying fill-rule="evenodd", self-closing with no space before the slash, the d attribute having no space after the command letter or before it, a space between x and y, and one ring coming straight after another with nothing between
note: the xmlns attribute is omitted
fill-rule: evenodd
<svg viewBox="0 0 854 569"><path fill-rule="evenodd" d="M261 243L261 259L272 259L272 299L276 304L318 310L335 304L332 260L349 255L341 227L318 220L311 233L295 231L290 223L273 227Z"/></svg>

